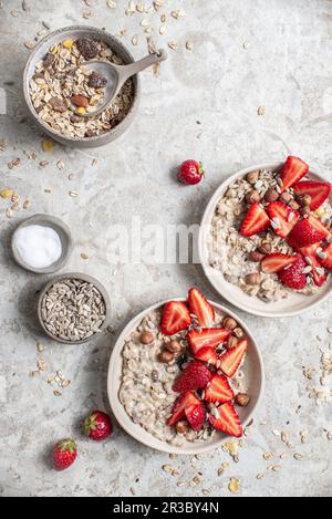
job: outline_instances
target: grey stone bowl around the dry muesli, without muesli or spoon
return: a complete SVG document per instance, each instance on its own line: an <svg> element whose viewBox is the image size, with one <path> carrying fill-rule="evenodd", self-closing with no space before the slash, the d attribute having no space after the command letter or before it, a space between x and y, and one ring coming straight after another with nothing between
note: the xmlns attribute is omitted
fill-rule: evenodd
<svg viewBox="0 0 332 519"><path fill-rule="evenodd" d="M126 117L120 124L114 126L114 128L95 137L73 138L52 129L45 122L42 121L42 118L34 110L29 92L29 83L34 73L35 65L39 61L44 58L44 55L48 53L48 50L52 45L56 45L58 43L64 40L76 40L77 38L91 38L93 40L104 41L115 52L115 54L117 54L123 60L125 65L135 62L134 56L128 51L128 49L123 45L121 41L118 41L115 37L113 37L106 31L89 25L72 25L66 27L64 29L59 29L43 38L31 51L31 54L28 59L23 72L23 94L32 118L34 120L35 124L43 131L43 133L48 134L54 141L58 141L59 143L64 144L66 146L77 148L95 148L98 146L104 146L105 144L108 144L118 138L125 133L125 131L131 126L132 122L134 121L135 115L138 111L141 98L141 81L138 77L139 74L136 74L132 77L132 81L134 83L134 100Z"/></svg>

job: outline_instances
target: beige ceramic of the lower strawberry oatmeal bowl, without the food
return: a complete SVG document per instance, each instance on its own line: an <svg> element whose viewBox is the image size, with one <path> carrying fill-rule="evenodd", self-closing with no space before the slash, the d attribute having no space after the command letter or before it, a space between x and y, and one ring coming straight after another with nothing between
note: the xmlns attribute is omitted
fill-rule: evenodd
<svg viewBox="0 0 332 519"><path fill-rule="evenodd" d="M174 301L174 300L173 300ZM185 301L184 298L178 298L176 301ZM147 447L152 447L157 450L162 450L164 453L169 454L187 454L187 455L195 455L206 453L208 450L212 450L219 447L225 440L229 439L229 436L224 435L222 433L216 432L211 438L207 439L206 442L196 442L190 443L186 442L181 447L176 447L167 442L160 442L159 439L152 436L147 433L141 425L134 424L129 416L126 414L122 403L118 398L118 392L121 387L121 378L122 378L122 350L125 343L126 338L139 325L142 319L149 314L153 310L162 308L167 301L163 301L160 303L154 304L153 307L144 310L141 312L136 318L134 318L122 331L121 335L118 336L108 365L108 376L107 376L107 393L110 404L113 411L113 414L120 425L133 438L137 439L142 444L146 445ZM247 336L249 338L250 345L246 356L246 361L243 364L243 372L248 380L248 387L250 394L250 403L247 407L239 408L240 419L243 426L246 426L249 421L251 419L253 413L257 411L257 407L260 403L260 399L263 394L263 386L264 386L264 372L263 372L263 363L262 357L259 352L258 345L247 328L247 325L234 313L230 312L225 307L221 307L218 303L214 303L210 301L214 308L231 318L236 319L239 325L245 330ZM144 347L144 346L143 346Z"/></svg>

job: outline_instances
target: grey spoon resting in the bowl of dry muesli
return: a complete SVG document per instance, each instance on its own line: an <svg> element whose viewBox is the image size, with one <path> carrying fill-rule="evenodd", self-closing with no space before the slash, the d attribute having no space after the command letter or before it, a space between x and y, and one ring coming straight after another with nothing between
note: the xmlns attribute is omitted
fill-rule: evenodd
<svg viewBox="0 0 332 519"><path fill-rule="evenodd" d="M162 61L165 61L166 59L167 53L164 50L159 50L158 52L149 54L139 61L131 63L129 65L116 65L110 61L100 60L91 60L81 63L74 69L74 71L77 69L81 69L84 73L89 73L91 71L90 76L94 76L95 86L97 89L104 89L104 92L102 101L97 106L95 106L95 110L90 107L90 110L80 115L82 117L95 117L96 115L100 115L114 101L129 77L144 71L148 66L156 65Z"/></svg>

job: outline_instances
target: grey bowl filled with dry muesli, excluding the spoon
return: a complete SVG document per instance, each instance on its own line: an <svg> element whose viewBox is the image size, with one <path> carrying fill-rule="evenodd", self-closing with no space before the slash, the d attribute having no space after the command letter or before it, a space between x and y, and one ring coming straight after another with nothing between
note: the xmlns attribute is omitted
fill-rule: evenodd
<svg viewBox="0 0 332 519"><path fill-rule="evenodd" d="M97 147L118 138L139 103L139 79L127 80L100 115L85 117L103 101L106 77L84 69L90 60L134 62L115 37L94 27L74 25L48 34L32 50L23 74L24 98L35 123L55 141L74 147Z"/></svg>

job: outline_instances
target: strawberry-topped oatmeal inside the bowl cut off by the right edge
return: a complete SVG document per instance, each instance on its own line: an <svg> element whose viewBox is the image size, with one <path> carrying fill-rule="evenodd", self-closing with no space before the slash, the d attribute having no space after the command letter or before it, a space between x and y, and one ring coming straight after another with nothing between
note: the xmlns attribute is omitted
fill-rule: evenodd
<svg viewBox="0 0 332 519"><path fill-rule="evenodd" d="M229 186L212 218L210 266L266 302L290 289L313 294L332 269L331 185L303 179L308 172L292 156L281 170L251 172Z"/></svg>

